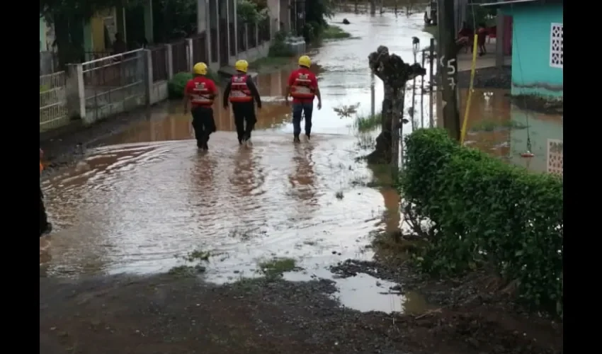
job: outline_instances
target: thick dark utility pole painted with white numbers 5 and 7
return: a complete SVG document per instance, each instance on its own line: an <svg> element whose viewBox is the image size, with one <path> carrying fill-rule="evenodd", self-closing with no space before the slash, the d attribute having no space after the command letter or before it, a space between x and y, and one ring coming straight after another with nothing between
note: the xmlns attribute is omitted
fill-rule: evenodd
<svg viewBox="0 0 602 354"><path fill-rule="evenodd" d="M458 50L455 45L454 0L438 0L439 67L443 96L443 127L450 137L460 141L460 112L458 111Z"/></svg>

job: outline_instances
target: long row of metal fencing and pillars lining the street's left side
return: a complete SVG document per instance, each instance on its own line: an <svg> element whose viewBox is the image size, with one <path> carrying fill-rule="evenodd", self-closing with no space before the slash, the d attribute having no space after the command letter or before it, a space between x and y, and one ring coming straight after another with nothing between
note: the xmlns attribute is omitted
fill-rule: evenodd
<svg viewBox="0 0 602 354"><path fill-rule="evenodd" d="M214 44L231 46L227 48L229 51L221 50L227 55L227 62L237 58L251 61L267 54L268 35L267 30L265 38L254 31L251 40L258 49L252 51L248 50L251 45L247 35L242 38L245 50L237 50L236 38L229 43L218 40ZM200 34L118 55L90 52L86 53L87 62L67 64L65 72L48 75L41 74L56 66L56 58L48 62L48 56L40 54L40 132L72 120L90 125L110 115L163 101L168 97L167 81L174 74L190 72L195 62L215 63L210 60L209 42L207 35Z"/></svg>

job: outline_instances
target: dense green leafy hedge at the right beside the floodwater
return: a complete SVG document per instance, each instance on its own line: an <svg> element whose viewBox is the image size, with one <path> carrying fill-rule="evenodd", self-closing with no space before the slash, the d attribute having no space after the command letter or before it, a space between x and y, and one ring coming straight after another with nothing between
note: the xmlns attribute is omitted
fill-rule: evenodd
<svg viewBox="0 0 602 354"><path fill-rule="evenodd" d="M431 222L421 268L454 275L493 266L516 280L522 299L562 316L562 179L460 147L445 130L416 130L405 147L404 208Z"/></svg>

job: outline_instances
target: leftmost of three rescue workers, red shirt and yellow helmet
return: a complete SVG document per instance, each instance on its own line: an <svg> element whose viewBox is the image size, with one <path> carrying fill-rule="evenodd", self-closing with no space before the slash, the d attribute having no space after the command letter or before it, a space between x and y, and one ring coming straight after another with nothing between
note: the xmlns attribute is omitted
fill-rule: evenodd
<svg viewBox="0 0 602 354"><path fill-rule="evenodd" d="M217 87L215 82L206 76L207 64L196 63L193 74L193 79L188 80L184 89L184 114L188 114L190 101L196 146L207 151L209 136L216 130L212 105L217 96Z"/></svg>

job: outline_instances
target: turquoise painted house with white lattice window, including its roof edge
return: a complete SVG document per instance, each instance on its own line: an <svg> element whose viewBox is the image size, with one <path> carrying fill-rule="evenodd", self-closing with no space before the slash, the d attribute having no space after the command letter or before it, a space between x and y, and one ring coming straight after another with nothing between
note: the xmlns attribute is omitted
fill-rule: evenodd
<svg viewBox="0 0 602 354"><path fill-rule="evenodd" d="M562 99L563 0L509 0L499 7L512 17L512 95Z"/></svg>

